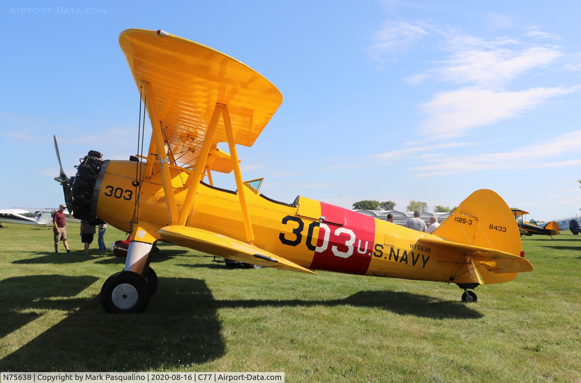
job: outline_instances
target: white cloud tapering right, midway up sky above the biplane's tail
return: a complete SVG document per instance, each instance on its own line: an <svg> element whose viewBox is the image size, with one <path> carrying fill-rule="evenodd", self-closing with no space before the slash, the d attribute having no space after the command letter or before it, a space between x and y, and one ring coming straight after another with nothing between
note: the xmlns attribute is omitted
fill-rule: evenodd
<svg viewBox="0 0 581 383"><path fill-rule="evenodd" d="M531 88L521 92L462 88L437 93L431 102L420 104L426 120L421 132L435 139L451 139L472 128L494 124L503 118L539 106L544 100L575 92L579 86Z"/></svg>

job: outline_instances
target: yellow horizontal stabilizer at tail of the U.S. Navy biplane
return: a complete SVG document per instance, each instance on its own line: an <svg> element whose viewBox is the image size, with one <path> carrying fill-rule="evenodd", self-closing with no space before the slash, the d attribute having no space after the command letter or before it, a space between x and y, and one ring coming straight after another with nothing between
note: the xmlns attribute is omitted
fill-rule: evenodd
<svg viewBox="0 0 581 383"><path fill-rule="evenodd" d="M533 266L528 260L518 255L491 248L467 245L435 238L422 238L419 242L429 244L442 250L458 252L470 256L481 267L493 273L530 272Z"/></svg>

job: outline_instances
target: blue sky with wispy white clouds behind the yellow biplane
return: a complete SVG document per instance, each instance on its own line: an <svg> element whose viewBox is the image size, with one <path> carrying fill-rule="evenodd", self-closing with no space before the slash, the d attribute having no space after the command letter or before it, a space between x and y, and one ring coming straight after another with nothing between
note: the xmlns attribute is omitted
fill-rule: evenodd
<svg viewBox="0 0 581 383"><path fill-rule="evenodd" d="M548 220L581 208L581 3L4 2L0 207L56 206L89 149L127 159L139 95L117 37L163 29L284 97L243 178L268 197L459 204L497 191ZM44 9L44 10L43 10ZM222 145L222 147L227 147ZM218 186L235 188L232 175Z"/></svg>

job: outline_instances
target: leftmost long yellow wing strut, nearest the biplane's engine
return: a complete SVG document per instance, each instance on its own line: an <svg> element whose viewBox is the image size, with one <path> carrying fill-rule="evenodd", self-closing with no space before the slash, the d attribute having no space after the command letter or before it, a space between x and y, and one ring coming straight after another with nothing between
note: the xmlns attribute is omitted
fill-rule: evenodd
<svg viewBox="0 0 581 383"><path fill-rule="evenodd" d="M162 128L159 118L157 118L157 107L155 104L155 95L153 94L153 86L144 81L144 91L147 99L147 109L149 111L149 120L151 120L152 138L155 140L155 147L157 149L157 158L159 159L159 167L162 170L162 186L163 192L166 195L167 214L170 219L170 225L178 223L178 209L175 206L174 187L171 183L170 174L170 159L167 158L166 148L163 142ZM149 156L148 156L149 157Z"/></svg>

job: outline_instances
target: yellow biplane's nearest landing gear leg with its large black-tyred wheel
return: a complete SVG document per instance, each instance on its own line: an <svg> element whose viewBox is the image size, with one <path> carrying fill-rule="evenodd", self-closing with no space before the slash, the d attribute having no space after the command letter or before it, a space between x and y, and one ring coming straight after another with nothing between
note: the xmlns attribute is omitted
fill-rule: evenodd
<svg viewBox="0 0 581 383"><path fill-rule="evenodd" d="M110 276L101 288L101 305L106 312L137 313L148 308L157 288L157 276L146 266L151 248L150 243L130 241L125 269Z"/></svg>

